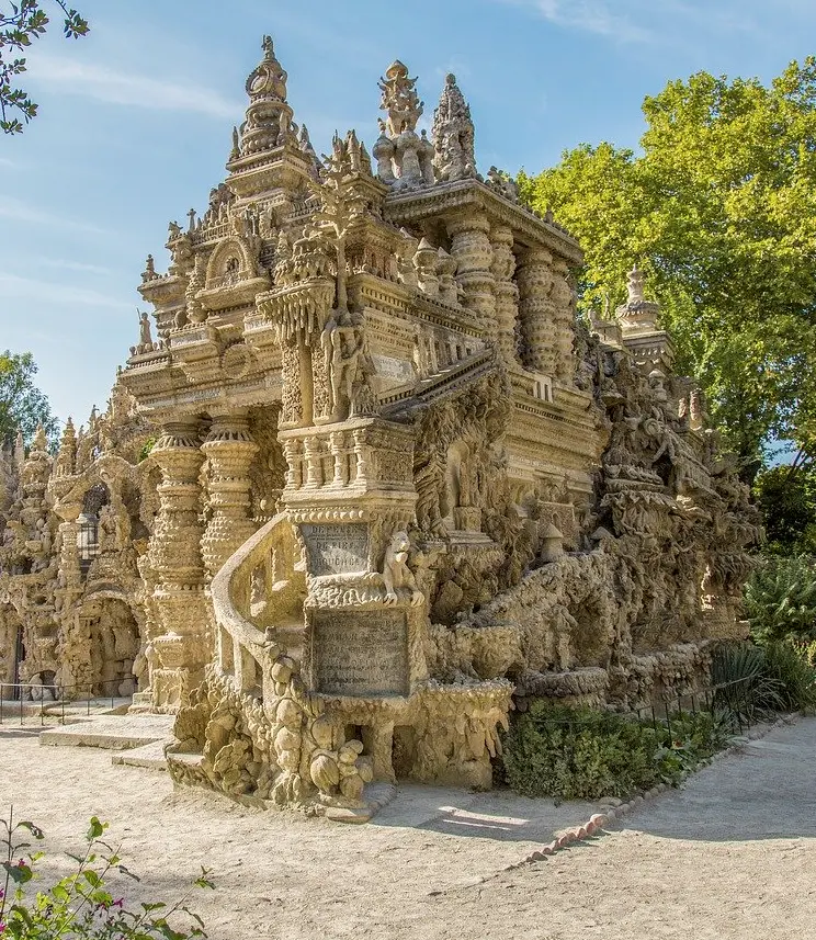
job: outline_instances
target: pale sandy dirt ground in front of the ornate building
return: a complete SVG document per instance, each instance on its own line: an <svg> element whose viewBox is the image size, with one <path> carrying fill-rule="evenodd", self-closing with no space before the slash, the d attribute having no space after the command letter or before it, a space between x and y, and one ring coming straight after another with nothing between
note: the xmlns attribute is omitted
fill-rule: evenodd
<svg viewBox="0 0 816 940"><path fill-rule="evenodd" d="M789 940L816 936L816 718L772 731L624 824L511 872L597 807L408 786L367 826L173 792L95 748L0 731L0 807L47 834L66 873L91 815L141 876L132 902L191 906L214 940ZM479 879L487 881L479 882Z"/></svg>

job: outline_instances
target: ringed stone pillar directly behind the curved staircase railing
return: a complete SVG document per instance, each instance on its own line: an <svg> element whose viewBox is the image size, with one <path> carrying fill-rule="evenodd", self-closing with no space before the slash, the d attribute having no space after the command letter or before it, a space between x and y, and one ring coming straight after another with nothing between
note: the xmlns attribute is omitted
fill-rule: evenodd
<svg viewBox="0 0 816 940"><path fill-rule="evenodd" d="M249 434L246 411L214 415L202 450L209 461L211 517L201 553L214 578L258 528L249 514L249 467L258 444Z"/></svg>

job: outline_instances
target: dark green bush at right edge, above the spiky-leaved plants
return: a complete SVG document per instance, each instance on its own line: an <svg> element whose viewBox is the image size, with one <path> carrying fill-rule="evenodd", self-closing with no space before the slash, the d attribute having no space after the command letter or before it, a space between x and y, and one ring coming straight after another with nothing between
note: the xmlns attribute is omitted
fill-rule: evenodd
<svg viewBox="0 0 816 940"><path fill-rule="evenodd" d="M751 636L759 644L816 639L816 568L807 556L767 558L745 587Z"/></svg>

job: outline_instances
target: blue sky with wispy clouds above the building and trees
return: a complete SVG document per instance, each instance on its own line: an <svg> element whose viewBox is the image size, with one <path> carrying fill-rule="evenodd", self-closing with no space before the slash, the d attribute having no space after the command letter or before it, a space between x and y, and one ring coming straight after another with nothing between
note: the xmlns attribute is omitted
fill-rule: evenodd
<svg viewBox="0 0 816 940"><path fill-rule="evenodd" d="M0 349L30 350L65 420L103 407L137 341L148 252L224 178L243 82L270 33L295 120L376 138L377 78L419 76L429 126L458 78L476 152L534 172L582 141L636 147L641 103L704 69L769 81L816 53L814 0L73 0L84 39L29 50L39 116L0 138ZM52 0L44 0L56 10Z"/></svg>

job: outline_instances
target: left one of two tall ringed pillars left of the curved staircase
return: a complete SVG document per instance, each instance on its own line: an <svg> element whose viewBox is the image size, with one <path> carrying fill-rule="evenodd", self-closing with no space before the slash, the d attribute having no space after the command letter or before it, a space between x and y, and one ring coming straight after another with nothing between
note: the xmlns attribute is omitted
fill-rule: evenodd
<svg viewBox="0 0 816 940"><path fill-rule="evenodd" d="M175 711L203 677L209 660L199 474L204 460L197 427L172 422L150 452L161 469L160 509L150 540L150 567L158 584L154 600L161 635L152 642L151 704Z"/></svg>

